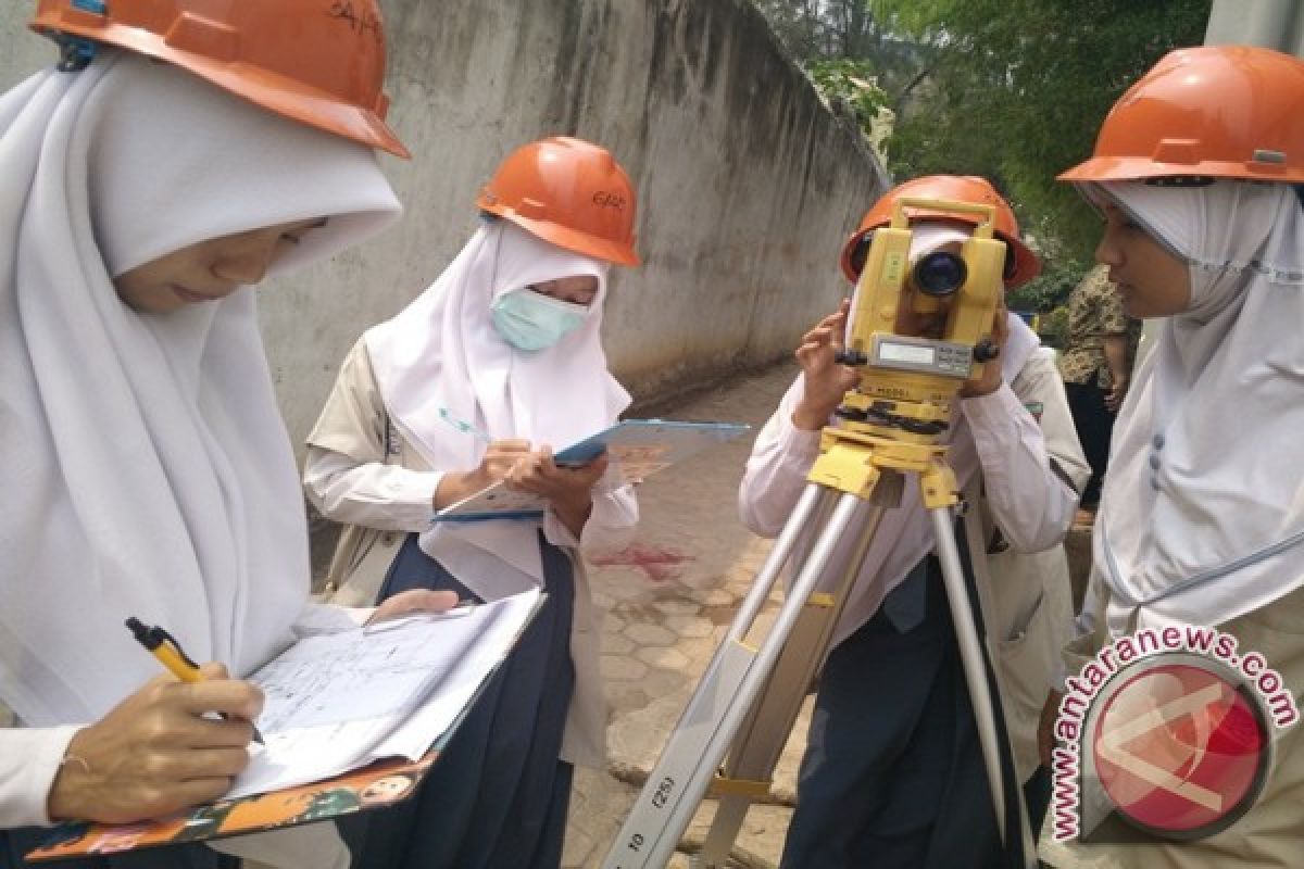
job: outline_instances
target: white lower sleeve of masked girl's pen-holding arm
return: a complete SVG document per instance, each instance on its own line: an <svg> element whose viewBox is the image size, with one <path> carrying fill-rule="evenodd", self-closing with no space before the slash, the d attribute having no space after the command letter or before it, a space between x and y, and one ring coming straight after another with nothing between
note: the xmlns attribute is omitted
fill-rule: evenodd
<svg viewBox="0 0 1304 869"><path fill-rule="evenodd" d="M322 516L383 532L424 532L443 473L359 463L342 452L308 447L304 490Z"/></svg>

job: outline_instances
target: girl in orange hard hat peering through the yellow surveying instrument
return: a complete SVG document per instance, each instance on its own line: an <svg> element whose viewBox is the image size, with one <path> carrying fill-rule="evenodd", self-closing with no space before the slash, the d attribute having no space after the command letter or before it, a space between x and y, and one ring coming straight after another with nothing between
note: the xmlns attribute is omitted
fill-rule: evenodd
<svg viewBox="0 0 1304 869"><path fill-rule="evenodd" d="M982 218L948 203L992 211ZM862 285L861 272L875 233L893 223L898 208L909 218L908 263L958 254L974 227L991 220L1005 248L1003 289L1041 272L1013 208L986 178L935 175L897 185L865 215L842 254L857 292L872 283L875 275L868 275ZM957 296L944 297L940 310L930 305L921 313L914 284L911 279L902 289L896 330L943 337ZM845 423L838 410L865 374L837 363L854 305L844 301L802 337L802 373L756 436L738 506L743 524L758 534L782 533L820 456L822 431ZM798 808L784 843L785 868L1026 865L1017 833L1025 826L1021 805L1039 817L1048 799L1048 774L1035 757L1037 713L1072 621L1059 542L1088 468L1063 384L1037 334L1001 305L991 340L1000 350L996 361L953 384L957 393L939 443L947 446L947 465L969 506L956 542L971 578L975 627L1000 687L992 726L1001 743L1005 816L998 818L988 790L923 487L908 479L898 507L883 515L832 631ZM844 535L835 547L828 585L845 575L854 537ZM805 529L799 551L812 543L814 529ZM1004 844L998 819L1011 831Z"/></svg>

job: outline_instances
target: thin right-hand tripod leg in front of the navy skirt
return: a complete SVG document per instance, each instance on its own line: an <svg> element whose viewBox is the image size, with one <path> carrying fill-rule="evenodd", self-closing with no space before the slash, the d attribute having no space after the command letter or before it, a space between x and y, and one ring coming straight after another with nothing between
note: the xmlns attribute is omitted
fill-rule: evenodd
<svg viewBox="0 0 1304 869"><path fill-rule="evenodd" d="M1011 835L1017 835L1022 843L1024 860L1037 865L1035 846L1028 829L1028 810L1020 790L1012 788L1018 800L1018 830L1008 830L1005 818L1005 782L1000 762L1000 728L996 726L996 710L992 704L990 683L987 681L986 651L974 627L969 591L965 588L964 567L960 564L960 550L956 545L955 525L951 509L938 507L928 511L932 515L932 529L938 543L938 560L941 563L941 576L947 586L947 601L951 605L951 620L956 627L956 641L960 646L960 661L964 664L965 684L974 710L974 724L982 747L983 765L987 767L987 784L991 788L991 803L996 813L996 829L1001 840L1009 843Z"/></svg>

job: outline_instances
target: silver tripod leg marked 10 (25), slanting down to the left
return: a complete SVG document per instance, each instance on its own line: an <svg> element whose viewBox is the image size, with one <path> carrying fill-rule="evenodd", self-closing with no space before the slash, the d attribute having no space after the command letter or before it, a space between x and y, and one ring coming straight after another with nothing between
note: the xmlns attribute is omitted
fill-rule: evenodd
<svg viewBox="0 0 1304 869"><path fill-rule="evenodd" d="M820 486L808 485L802 495L798 511L803 521L812 515L820 491ZM748 605L756 589L748 594L745 611L738 614L729 637L712 658L707 674L670 734L630 816L612 843L602 864L605 869L660 868L669 861L743 717L755 704L806 599L823 578L838 539L852 525L862 504L863 500L855 495L838 498L827 526L815 539L806 563L798 571L792 593L778 610L773 627L764 641L755 648L741 638L746 633L746 627L739 623L745 620L750 623L760 608L759 603L754 607ZM793 520L789 520L789 526L794 525L797 519L798 515L794 515ZM795 541L802 530L789 526L784 528L781 541L788 538ZM790 543L788 548L790 551ZM777 565L773 565L773 576L765 577L769 584L777 577L784 559L786 554L782 554ZM765 563L765 572L771 572L773 560L772 554L771 560ZM760 597L764 599L764 593Z"/></svg>

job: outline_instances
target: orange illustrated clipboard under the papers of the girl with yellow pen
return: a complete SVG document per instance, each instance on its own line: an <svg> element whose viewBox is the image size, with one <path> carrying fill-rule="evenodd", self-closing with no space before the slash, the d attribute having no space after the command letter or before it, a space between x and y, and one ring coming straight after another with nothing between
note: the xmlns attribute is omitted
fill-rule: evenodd
<svg viewBox="0 0 1304 869"><path fill-rule="evenodd" d="M539 612L544 598L544 594L537 595L528 618L512 637L506 654L485 671L473 694L462 706L454 722L438 735L421 757L416 760L383 758L321 780L261 793L224 797L167 817L137 823L64 823L53 827L40 847L29 852L25 860L51 862L72 857L222 839L382 809L411 799ZM376 634L383 633L383 628L376 632Z"/></svg>

